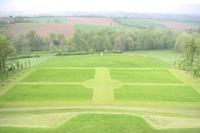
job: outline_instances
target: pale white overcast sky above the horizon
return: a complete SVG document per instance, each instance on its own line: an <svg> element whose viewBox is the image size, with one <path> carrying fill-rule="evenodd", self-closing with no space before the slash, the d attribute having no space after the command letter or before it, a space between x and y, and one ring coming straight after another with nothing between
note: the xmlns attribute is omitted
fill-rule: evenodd
<svg viewBox="0 0 200 133"><path fill-rule="evenodd" d="M200 14L200 0L0 0L0 14L67 11Z"/></svg>

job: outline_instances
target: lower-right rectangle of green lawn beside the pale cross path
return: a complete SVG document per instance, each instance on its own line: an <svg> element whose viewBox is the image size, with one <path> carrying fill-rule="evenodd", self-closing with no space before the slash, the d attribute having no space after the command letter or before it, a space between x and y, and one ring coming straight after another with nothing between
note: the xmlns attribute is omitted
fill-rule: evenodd
<svg viewBox="0 0 200 133"><path fill-rule="evenodd" d="M125 85L114 91L116 100L200 102L200 94L189 86Z"/></svg>

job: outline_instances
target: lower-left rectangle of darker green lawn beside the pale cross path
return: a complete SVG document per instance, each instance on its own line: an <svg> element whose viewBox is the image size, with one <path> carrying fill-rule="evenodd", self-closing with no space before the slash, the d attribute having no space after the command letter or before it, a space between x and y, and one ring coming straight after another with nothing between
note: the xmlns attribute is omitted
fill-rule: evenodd
<svg viewBox="0 0 200 133"><path fill-rule="evenodd" d="M92 89L80 85L16 85L0 97L9 101L91 100Z"/></svg>

